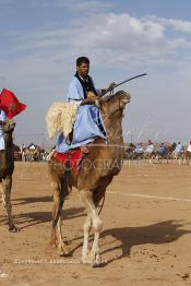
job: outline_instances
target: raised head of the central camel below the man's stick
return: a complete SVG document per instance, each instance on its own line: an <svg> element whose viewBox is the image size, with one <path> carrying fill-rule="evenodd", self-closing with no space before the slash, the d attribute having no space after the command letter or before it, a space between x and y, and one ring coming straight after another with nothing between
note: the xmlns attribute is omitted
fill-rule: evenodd
<svg viewBox="0 0 191 286"><path fill-rule="evenodd" d="M100 110L105 117L121 119L127 104L130 103L131 95L119 91L114 95L108 95L100 100Z"/></svg>

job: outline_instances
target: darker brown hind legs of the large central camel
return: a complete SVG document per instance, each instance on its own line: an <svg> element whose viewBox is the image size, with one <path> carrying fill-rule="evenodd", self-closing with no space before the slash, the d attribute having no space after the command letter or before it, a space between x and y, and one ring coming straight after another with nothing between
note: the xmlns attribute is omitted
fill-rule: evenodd
<svg viewBox="0 0 191 286"><path fill-rule="evenodd" d="M62 211L64 198L58 182L52 182L51 186L53 188L53 211L52 211L52 231L51 231L50 245L58 247L59 255L68 255L69 251L67 250L67 246L63 242L62 231L61 231L61 211ZM58 237L56 233L58 233Z"/></svg>

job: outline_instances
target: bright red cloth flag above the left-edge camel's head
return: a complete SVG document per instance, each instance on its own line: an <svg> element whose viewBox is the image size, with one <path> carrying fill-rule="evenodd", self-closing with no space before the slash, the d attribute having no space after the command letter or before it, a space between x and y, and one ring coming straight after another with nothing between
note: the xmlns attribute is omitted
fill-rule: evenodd
<svg viewBox="0 0 191 286"><path fill-rule="evenodd" d="M2 109L9 119L19 115L26 108L26 105L19 102L16 96L9 90L3 88L0 94L0 109Z"/></svg>

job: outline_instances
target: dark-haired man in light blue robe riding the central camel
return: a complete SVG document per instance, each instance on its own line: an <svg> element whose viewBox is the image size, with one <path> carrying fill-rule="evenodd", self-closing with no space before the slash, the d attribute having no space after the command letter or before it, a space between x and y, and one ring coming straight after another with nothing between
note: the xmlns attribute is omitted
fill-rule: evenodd
<svg viewBox="0 0 191 286"><path fill-rule="evenodd" d="M96 90L93 79L88 75L89 60L86 57L76 59L76 73L70 83L67 99L80 105L73 132L69 140L61 134L58 140L57 152L65 153L71 148L81 146L86 152L86 144L96 138L106 140L104 122L96 105L89 104L91 98L98 98L116 83L111 83L107 90Z"/></svg>

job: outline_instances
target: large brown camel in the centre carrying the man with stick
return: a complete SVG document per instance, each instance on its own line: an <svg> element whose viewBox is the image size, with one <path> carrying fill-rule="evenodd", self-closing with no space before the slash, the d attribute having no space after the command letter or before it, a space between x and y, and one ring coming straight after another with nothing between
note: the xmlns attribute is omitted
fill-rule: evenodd
<svg viewBox="0 0 191 286"><path fill-rule="evenodd" d="M83 157L79 174L74 174L68 167L63 167L53 157L48 163L53 191L50 245L58 248L60 255L68 255L70 253L62 239L61 210L64 194L74 187L79 190L81 202L84 203L87 213L83 225L84 240L81 262L93 266L100 266L104 263L98 246L103 222L97 207L99 202L105 198L106 188L122 167L124 145L121 122L124 107L129 102L130 94L123 91L99 99L100 114L107 133L107 143L98 139L95 144L92 144L89 153ZM94 241L89 250L88 236L92 228L94 231Z"/></svg>

